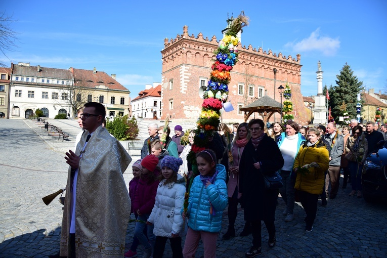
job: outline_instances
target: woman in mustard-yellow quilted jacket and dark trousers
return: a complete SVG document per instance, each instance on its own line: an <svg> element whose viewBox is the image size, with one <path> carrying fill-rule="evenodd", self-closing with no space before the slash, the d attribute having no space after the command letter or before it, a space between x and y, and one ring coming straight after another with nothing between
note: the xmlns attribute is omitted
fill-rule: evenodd
<svg viewBox="0 0 387 258"><path fill-rule="evenodd" d="M308 131L308 141L298 150L293 169L296 172L294 188L299 190L301 204L307 217L306 232L312 231L317 202L325 184L324 172L329 166L329 153L316 128Z"/></svg>

